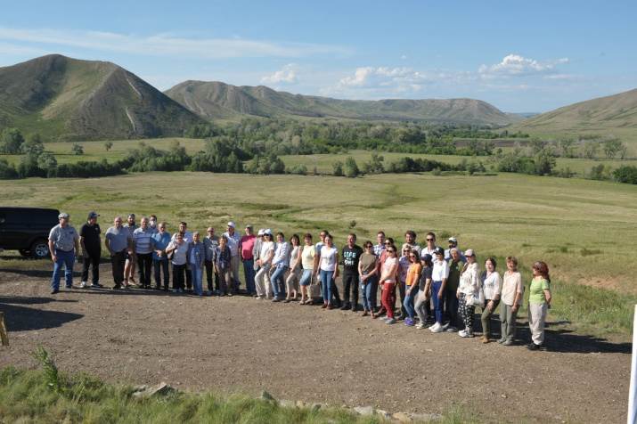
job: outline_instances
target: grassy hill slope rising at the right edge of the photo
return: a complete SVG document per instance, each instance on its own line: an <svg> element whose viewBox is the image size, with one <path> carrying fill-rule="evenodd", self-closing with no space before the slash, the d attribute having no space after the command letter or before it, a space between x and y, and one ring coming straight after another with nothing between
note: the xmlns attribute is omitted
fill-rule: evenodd
<svg viewBox="0 0 637 424"><path fill-rule="evenodd" d="M523 132L600 132L637 127L637 89L564 106L528 118L511 129Z"/></svg>

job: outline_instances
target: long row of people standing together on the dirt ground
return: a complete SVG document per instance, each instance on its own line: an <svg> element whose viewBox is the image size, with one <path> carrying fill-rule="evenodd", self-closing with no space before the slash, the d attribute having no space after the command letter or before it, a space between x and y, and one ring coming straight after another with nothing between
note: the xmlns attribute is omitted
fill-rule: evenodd
<svg viewBox="0 0 637 424"><path fill-rule="evenodd" d="M54 263L52 294L60 289L62 266L66 267L65 287L73 288L73 259L78 260L80 246L84 257L80 287L103 287L99 282L102 241L98 216L90 212L78 234L69 225L69 215L60 214L60 224L49 235ZM140 224L135 223L132 213L127 215L126 224L116 217L104 235L115 283L112 289L137 286L167 291L170 263L174 293L190 291L203 296L205 269L208 296L233 296L241 293L242 264L246 284L243 293L259 300L313 305L314 298L322 296L324 309L339 307L357 312L360 289L362 316L379 318L387 324L404 321L407 326L428 328L433 333L457 332L462 338L473 338L475 309L480 306L483 343L492 340L492 316L500 306L502 336L497 341L503 346L514 344L517 314L525 291L515 257L506 258L507 271L503 275L495 270L493 257L486 258L481 272L475 251L461 252L455 238L448 240L448 249L442 249L436 246L436 234L428 232L427 245L421 247L416 242L416 233L407 231L401 249L384 232L378 232L377 244L365 241L363 248L356 244L356 235L350 233L347 245L340 251L341 262L339 249L328 231L320 232L320 241L316 243L312 234L304 234L303 244L298 234L293 234L288 242L282 232L274 234L270 229L255 234L252 225L246 225L245 235L241 235L235 231L233 222L225 225L221 236L215 234L213 226L207 231L208 235L202 237L200 232L187 231L187 224L181 222L179 231L171 235L165 223L158 223L157 216L143 216ZM336 285L340 263L342 299ZM135 267L139 281L135 281ZM550 283L548 266L535 262L528 298L532 333L526 345L529 350L537 350L543 344L544 320L551 307ZM400 297L398 316L396 293Z"/></svg>

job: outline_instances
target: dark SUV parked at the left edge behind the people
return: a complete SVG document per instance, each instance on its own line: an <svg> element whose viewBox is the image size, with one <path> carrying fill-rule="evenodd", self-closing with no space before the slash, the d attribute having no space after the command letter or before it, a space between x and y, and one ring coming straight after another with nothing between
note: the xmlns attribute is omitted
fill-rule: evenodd
<svg viewBox="0 0 637 424"><path fill-rule="evenodd" d="M49 232L60 224L58 209L0 206L0 249L19 250L24 257L44 258Z"/></svg>

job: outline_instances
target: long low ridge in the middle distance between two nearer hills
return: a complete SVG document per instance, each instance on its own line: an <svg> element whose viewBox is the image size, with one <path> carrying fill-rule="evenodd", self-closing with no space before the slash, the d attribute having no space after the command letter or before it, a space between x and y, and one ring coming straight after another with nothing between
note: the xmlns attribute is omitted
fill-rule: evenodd
<svg viewBox="0 0 637 424"><path fill-rule="evenodd" d="M268 118L417 119L500 125L519 120L489 103L473 99L338 100L277 92L265 86L203 81L185 81L164 93L194 113L214 119L236 119L247 114Z"/></svg>

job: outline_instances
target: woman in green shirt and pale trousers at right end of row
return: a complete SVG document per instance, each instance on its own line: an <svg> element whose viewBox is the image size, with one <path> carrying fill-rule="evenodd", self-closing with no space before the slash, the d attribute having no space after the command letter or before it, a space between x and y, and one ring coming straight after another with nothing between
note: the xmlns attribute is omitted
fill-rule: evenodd
<svg viewBox="0 0 637 424"><path fill-rule="evenodd" d="M528 326L531 329L531 343L528 350L538 350L544 341L544 321L551 308L551 278L549 266L545 262L533 265L533 280L528 289Z"/></svg>

